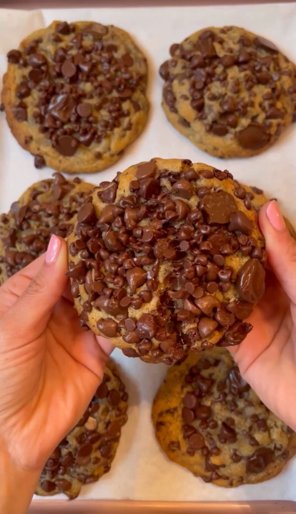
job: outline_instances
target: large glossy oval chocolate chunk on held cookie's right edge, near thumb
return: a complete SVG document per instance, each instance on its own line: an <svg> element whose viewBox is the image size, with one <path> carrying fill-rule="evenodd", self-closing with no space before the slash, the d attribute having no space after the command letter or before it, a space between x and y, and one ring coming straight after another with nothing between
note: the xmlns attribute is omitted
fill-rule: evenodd
<svg viewBox="0 0 296 514"><path fill-rule="evenodd" d="M236 287L244 302L255 303L265 291L265 272L257 259L249 259L237 273Z"/></svg>

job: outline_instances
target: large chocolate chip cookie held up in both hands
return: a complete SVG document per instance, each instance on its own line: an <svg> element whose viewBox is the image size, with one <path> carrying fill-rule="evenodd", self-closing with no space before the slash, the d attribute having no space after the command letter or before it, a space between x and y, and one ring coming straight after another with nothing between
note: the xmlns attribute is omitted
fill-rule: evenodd
<svg viewBox="0 0 296 514"><path fill-rule="evenodd" d="M245 189L188 159L102 182L68 248L81 325L147 362L241 343L264 293L264 238Z"/></svg>

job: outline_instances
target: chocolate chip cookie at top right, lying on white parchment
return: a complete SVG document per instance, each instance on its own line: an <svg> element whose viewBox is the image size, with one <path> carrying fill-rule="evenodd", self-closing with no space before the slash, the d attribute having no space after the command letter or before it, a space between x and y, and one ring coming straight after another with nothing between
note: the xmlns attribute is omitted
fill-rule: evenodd
<svg viewBox="0 0 296 514"><path fill-rule="evenodd" d="M159 69L170 123L215 157L250 157L292 121L294 64L270 41L238 27L198 30Z"/></svg>

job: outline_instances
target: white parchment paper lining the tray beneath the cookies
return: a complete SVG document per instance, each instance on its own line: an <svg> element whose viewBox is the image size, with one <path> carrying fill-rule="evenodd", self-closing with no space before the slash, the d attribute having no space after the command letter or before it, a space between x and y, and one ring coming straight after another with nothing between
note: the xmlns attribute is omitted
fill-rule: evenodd
<svg viewBox="0 0 296 514"><path fill-rule="evenodd" d="M115 166L84 176L85 179L97 184L112 178L117 171L131 164L152 157L187 158L194 162L206 162L216 168L227 168L236 179L263 188L267 195L276 196L281 201L284 213L296 223L296 125L289 127L280 141L262 155L241 160L216 159L196 149L168 124L160 107L162 81L157 74L159 65L168 59L168 48L172 43L180 42L192 32L210 25L243 26L278 43L281 50L296 62L296 4L39 11L3 9L0 10L1 80L6 70L7 51L17 47L29 32L47 26L55 19L68 22L93 20L117 25L134 36L150 64L148 95L151 112L144 133ZM22 150L11 136L4 115L0 116L0 156L0 210L3 212L32 182L50 177L52 170L34 168L32 156ZM171 463L156 443L150 420L151 402L167 366L128 359L118 350L113 356L120 364L130 393L128 423L122 430L111 471L98 483L84 486L80 500L296 500L296 458L278 477L263 484L236 489L205 484L187 470ZM49 497L48 501L62 498L63 495L57 495Z"/></svg>

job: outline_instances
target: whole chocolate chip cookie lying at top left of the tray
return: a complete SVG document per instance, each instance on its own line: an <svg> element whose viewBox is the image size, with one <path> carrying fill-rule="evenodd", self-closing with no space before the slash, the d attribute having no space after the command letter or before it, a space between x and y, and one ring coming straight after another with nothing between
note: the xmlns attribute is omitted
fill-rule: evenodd
<svg viewBox="0 0 296 514"><path fill-rule="evenodd" d="M53 22L8 52L2 101L18 143L65 173L114 164L142 132L147 64L113 25Z"/></svg>

